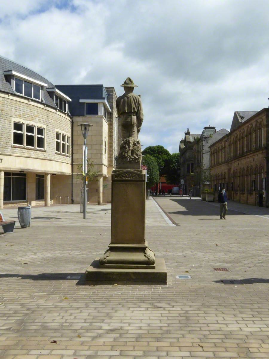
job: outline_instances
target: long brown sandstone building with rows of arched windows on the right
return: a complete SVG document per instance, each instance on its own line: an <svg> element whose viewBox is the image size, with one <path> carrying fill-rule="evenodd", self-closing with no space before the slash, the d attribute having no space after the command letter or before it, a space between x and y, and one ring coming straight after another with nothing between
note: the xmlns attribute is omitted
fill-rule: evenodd
<svg viewBox="0 0 269 359"><path fill-rule="evenodd" d="M210 187L228 199L268 206L269 109L235 111L230 133L210 148Z"/></svg>

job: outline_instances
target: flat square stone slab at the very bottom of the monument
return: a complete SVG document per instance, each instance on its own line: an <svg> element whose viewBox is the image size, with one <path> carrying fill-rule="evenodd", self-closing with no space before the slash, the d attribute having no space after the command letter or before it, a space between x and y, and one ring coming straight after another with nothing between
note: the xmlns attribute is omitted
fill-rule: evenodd
<svg viewBox="0 0 269 359"><path fill-rule="evenodd" d="M155 267L155 268L154 268ZM85 272L88 285L166 285L167 272L163 258L156 258L155 265L100 265L95 258Z"/></svg>

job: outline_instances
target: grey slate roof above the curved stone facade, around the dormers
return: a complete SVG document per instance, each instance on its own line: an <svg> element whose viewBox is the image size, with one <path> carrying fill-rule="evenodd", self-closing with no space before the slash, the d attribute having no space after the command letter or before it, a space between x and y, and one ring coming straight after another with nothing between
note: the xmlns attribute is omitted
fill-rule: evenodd
<svg viewBox="0 0 269 359"><path fill-rule="evenodd" d="M6 81L4 76L4 71L8 70L14 70L22 75L28 76L30 78L33 78L38 81L42 81L46 84L48 84L48 87L55 87L50 81L48 81L43 76L39 75L33 70L28 69L28 67L22 66L17 64L16 62L6 59L5 57L0 56L0 91L15 94L13 88L9 84L8 81ZM34 99L33 99L34 101ZM51 106L53 108L56 108L55 103L53 102L52 98L49 96L46 88L44 87L44 101L48 106Z"/></svg>

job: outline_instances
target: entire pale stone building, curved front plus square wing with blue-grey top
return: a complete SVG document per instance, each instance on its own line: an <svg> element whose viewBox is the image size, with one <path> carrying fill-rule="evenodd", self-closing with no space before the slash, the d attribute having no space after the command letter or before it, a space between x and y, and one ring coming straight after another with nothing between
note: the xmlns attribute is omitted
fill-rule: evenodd
<svg viewBox="0 0 269 359"><path fill-rule="evenodd" d="M82 122L94 125L87 139L88 158L98 173L88 199L109 202L120 142L115 99L114 88L59 88L0 57L0 208L27 202L48 206L60 197L61 203L80 201L75 176L82 160Z"/></svg>

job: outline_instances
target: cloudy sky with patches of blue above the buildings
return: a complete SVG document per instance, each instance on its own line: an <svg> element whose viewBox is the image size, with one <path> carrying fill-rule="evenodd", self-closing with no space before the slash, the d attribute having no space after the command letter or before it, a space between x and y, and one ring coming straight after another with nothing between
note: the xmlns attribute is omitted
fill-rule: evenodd
<svg viewBox="0 0 269 359"><path fill-rule="evenodd" d="M268 0L1 0L0 53L52 83L141 94L142 144L268 107Z"/></svg>

